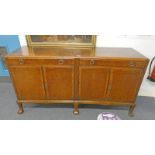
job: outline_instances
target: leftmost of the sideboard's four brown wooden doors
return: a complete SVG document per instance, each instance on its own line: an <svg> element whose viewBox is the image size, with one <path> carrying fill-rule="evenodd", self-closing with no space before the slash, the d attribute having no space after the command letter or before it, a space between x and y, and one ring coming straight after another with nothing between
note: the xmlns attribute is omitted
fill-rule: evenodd
<svg viewBox="0 0 155 155"><path fill-rule="evenodd" d="M39 100L45 98L41 67L11 67L10 71L18 99Z"/></svg>

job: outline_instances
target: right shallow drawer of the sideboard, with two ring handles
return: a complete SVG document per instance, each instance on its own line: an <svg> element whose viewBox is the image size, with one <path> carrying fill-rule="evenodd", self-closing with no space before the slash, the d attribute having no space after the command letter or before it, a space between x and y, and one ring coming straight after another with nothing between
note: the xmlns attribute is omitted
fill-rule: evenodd
<svg viewBox="0 0 155 155"><path fill-rule="evenodd" d="M146 66L146 61L127 59L81 59L80 65L144 68Z"/></svg>

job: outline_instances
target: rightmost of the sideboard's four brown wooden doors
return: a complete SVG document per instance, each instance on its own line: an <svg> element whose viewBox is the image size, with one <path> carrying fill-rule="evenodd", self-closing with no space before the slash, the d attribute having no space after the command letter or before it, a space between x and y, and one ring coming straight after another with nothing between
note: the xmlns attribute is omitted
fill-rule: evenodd
<svg viewBox="0 0 155 155"><path fill-rule="evenodd" d="M112 69L108 99L114 102L133 102L139 89L141 77L141 69Z"/></svg>

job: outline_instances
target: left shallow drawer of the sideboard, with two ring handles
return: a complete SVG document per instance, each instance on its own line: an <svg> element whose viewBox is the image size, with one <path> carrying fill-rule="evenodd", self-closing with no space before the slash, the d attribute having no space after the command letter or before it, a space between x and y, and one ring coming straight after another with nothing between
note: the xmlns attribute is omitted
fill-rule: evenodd
<svg viewBox="0 0 155 155"><path fill-rule="evenodd" d="M6 59L7 66L12 65L74 65L74 59Z"/></svg>

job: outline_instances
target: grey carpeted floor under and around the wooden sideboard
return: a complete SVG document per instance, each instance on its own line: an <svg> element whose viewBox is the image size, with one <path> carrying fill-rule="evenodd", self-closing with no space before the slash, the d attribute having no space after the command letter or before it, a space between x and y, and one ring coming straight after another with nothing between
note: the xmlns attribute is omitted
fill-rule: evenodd
<svg viewBox="0 0 155 155"><path fill-rule="evenodd" d="M155 98L137 97L135 116L128 116L127 107L80 105L79 115L66 104L24 104L24 113L17 114L16 96L10 82L0 82L0 120L96 120L101 112L113 112L122 120L154 120Z"/></svg>

